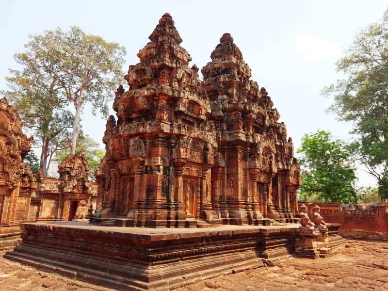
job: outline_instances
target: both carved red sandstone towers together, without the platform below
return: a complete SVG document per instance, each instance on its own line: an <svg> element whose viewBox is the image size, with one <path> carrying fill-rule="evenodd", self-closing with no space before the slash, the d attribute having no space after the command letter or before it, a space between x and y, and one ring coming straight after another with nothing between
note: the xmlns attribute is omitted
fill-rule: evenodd
<svg viewBox="0 0 388 291"><path fill-rule="evenodd" d="M230 34L202 82L168 13L149 39L125 76L129 91L117 89L117 121L106 125L98 218L150 227L294 222L301 180L291 138Z"/></svg>

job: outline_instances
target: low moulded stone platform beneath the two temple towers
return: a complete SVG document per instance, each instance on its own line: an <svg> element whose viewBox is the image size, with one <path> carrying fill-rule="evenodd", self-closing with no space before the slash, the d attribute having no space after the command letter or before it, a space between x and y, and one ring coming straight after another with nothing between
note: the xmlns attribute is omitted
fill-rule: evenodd
<svg viewBox="0 0 388 291"><path fill-rule="evenodd" d="M142 228L87 222L22 223L23 242L4 255L58 274L123 290L171 290L249 268L276 265L291 255L334 255L328 224ZM338 225L339 227L339 225ZM339 236L338 233L333 233Z"/></svg>

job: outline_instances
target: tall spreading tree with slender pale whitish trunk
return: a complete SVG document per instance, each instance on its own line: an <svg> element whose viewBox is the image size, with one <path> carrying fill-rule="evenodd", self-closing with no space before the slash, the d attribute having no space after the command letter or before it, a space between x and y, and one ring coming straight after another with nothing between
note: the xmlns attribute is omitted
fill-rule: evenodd
<svg viewBox="0 0 388 291"><path fill-rule="evenodd" d="M44 35L30 35L27 48L39 51L40 57L53 66L51 73L61 83L65 97L76 109L70 152L75 153L82 106L90 102L92 113L99 109L108 117L107 102L113 90L122 83L124 47L107 42L96 35L88 35L79 27L70 31L45 31Z"/></svg>

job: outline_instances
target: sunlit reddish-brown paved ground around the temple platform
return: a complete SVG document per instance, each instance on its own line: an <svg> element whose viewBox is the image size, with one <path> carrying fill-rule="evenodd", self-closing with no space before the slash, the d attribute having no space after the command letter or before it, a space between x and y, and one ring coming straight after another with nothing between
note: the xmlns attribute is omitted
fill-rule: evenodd
<svg viewBox="0 0 388 291"><path fill-rule="evenodd" d="M3 258L0 291L113 291L113 289L45 272ZM47 271L47 270L46 270ZM348 241L329 259L292 258L187 285L175 291L388 291L387 242Z"/></svg>

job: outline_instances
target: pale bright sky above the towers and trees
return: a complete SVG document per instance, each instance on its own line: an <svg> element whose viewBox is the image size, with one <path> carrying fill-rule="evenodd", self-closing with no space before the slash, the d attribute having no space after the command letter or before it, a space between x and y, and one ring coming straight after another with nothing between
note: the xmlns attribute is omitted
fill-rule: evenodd
<svg viewBox="0 0 388 291"><path fill-rule="evenodd" d="M13 54L25 50L29 34L77 25L125 46L127 72L139 62L137 52L168 12L183 39L181 46L193 58L190 66L202 68L210 62L222 34L231 33L252 69L251 79L266 88L280 112L279 121L287 125L296 151L303 134L318 128L349 138L350 124L324 114L332 100L320 91L341 77L334 71L341 47L353 41L358 28L378 21L386 8L384 0L1 1L0 90L7 89L8 68L21 69ZM88 107L81 118L84 132L103 147L106 121ZM358 173L358 185L375 185L374 178Z"/></svg>

